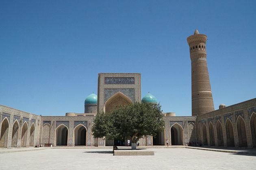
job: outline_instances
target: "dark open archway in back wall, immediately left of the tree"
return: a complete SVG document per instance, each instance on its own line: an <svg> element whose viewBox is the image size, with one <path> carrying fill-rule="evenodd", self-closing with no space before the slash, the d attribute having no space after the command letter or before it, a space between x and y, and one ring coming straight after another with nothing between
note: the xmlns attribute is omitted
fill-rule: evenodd
<svg viewBox="0 0 256 170"><path fill-rule="evenodd" d="M75 146L86 146L86 128L83 125L76 126L75 130Z"/></svg>

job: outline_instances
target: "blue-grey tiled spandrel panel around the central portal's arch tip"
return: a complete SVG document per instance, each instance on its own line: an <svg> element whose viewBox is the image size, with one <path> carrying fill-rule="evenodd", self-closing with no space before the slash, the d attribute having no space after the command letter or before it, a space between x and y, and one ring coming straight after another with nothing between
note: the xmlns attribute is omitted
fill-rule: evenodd
<svg viewBox="0 0 256 170"><path fill-rule="evenodd" d="M104 89L104 104L106 103L106 101L111 98L114 94L116 94L117 92L121 92L122 94L124 94L125 96L127 96L128 98L130 98L132 100L132 102L135 101L135 91L134 89Z"/></svg>

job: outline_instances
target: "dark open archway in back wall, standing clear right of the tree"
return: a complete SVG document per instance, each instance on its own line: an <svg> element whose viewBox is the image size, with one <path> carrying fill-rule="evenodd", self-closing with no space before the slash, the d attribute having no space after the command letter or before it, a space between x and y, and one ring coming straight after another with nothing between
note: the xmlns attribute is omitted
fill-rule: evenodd
<svg viewBox="0 0 256 170"><path fill-rule="evenodd" d="M183 145L183 130L178 123L171 127L171 145Z"/></svg>

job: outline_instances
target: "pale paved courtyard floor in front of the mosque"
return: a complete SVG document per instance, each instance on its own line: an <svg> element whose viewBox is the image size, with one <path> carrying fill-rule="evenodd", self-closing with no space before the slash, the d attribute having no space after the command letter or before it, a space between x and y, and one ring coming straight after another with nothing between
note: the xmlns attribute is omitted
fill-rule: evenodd
<svg viewBox="0 0 256 170"><path fill-rule="evenodd" d="M154 156L113 156L112 149L43 149L0 154L0 169L256 169L256 155L152 148Z"/></svg>

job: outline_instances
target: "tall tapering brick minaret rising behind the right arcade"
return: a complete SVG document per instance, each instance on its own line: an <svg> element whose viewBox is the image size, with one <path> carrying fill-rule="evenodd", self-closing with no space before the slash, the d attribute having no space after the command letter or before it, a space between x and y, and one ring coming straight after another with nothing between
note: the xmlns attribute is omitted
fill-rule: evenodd
<svg viewBox="0 0 256 170"><path fill-rule="evenodd" d="M191 59L192 116L202 115L214 110L213 95L206 62L207 36L195 30L187 38Z"/></svg>

